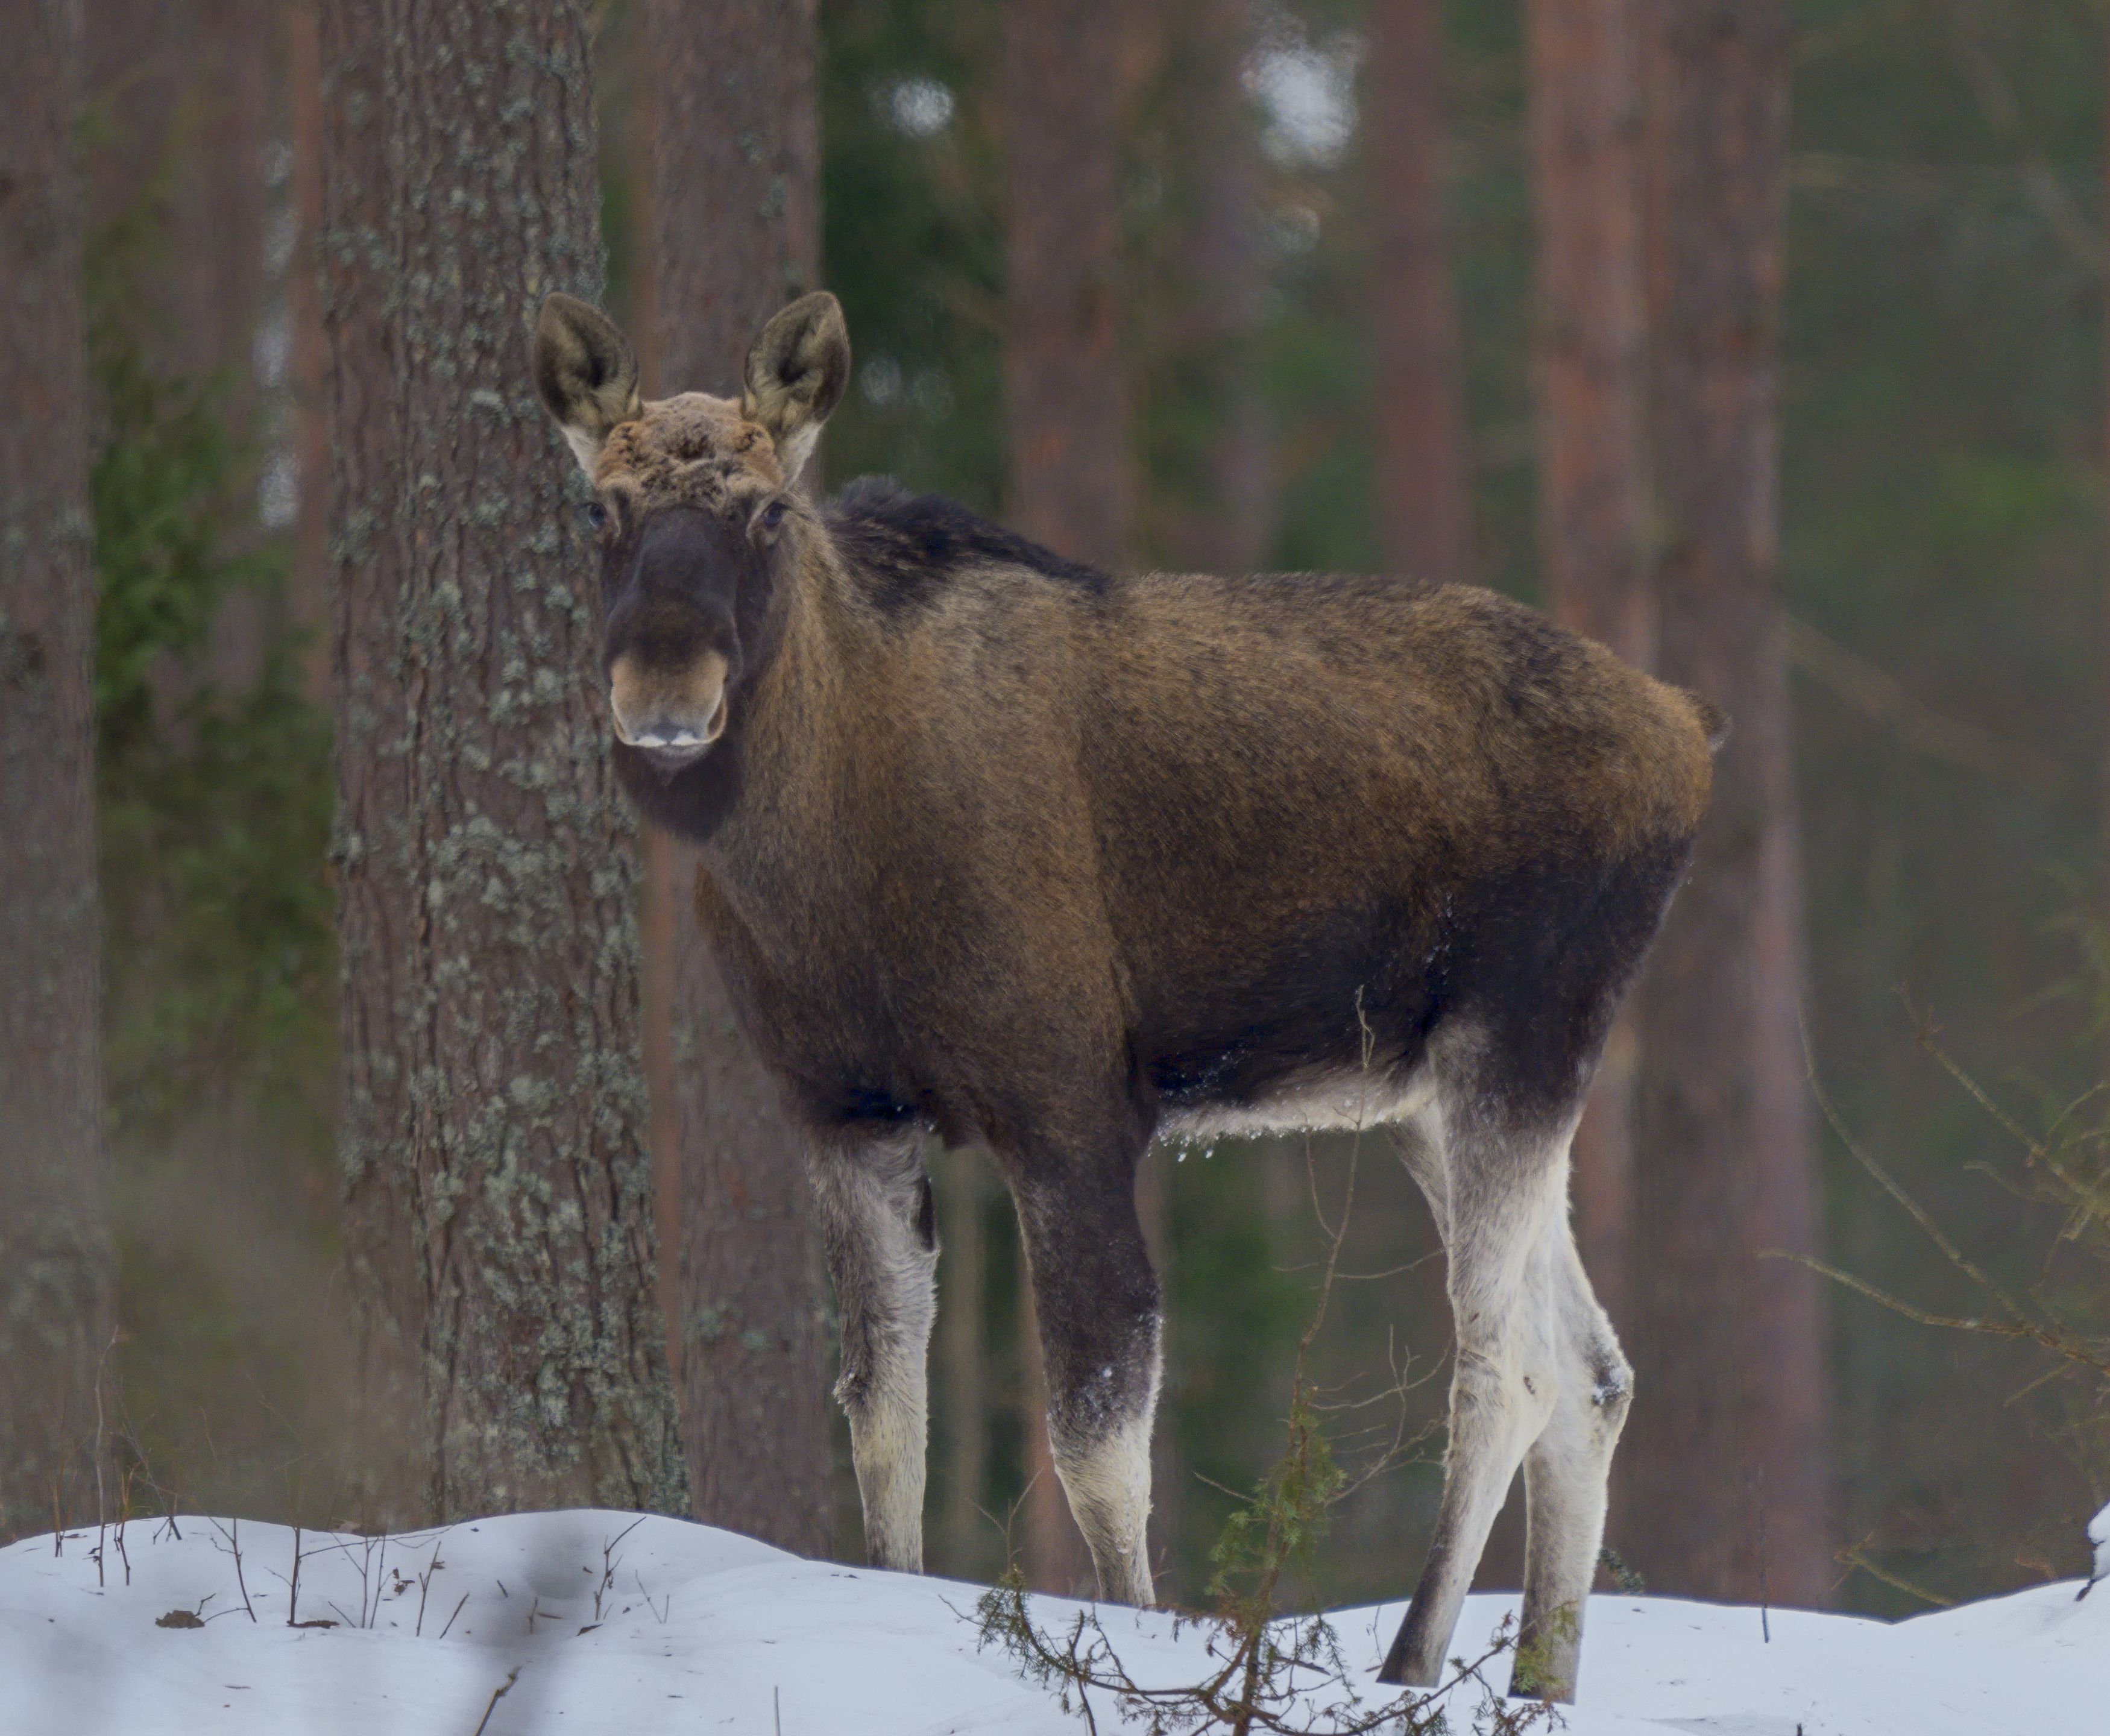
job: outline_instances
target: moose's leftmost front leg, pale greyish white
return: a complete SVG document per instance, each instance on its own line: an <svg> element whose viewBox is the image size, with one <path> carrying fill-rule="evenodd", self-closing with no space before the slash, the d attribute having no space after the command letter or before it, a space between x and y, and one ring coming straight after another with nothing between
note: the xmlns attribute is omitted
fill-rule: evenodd
<svg viewBox="0 0 2110 1736"><path fill-rule="evenodd" d="M874 1567L922 1571L928 1348L937 1318L937 1221L914 1139L810 1158L850 1417L850 1460Z"/></svg>

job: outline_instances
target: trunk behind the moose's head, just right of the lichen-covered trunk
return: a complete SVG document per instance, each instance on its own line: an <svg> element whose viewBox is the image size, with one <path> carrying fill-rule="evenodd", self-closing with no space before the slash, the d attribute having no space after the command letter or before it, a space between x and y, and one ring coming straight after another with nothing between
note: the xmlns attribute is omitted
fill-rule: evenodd
<svg viewBox="0 0 2110 1736"><path fill-rule="evenodd" d="M817 51L812 0L648 0L648 390L736 392L762 323L819 283ZM694 886L694 852L665 856L673 888ZM825 1289L798 1137L686 890L669 903L673 1367L694 1512L827 1555Z"/></svg>

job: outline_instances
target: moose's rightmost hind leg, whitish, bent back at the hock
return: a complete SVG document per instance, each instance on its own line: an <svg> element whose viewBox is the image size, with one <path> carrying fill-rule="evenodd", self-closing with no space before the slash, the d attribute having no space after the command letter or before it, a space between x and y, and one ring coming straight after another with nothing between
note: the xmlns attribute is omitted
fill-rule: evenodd
<svg viewBox="0 0 2110 1736"><path fill-rule="evenodd" d="M1633 1369L1564 1219L1547 1226L1547 1242L1561 1369L1553 1415L1523 1455L1523 1624L1509 1692L1572 1700L1582 1609L1604 1544L1612 1449L1633 1401Z"/></svg>

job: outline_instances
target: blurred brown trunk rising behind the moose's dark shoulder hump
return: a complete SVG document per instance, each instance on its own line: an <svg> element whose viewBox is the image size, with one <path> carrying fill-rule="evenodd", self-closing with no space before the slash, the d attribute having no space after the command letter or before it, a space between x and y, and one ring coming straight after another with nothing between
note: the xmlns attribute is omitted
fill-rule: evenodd
<svg viewBox="0 0 2110 1736"><path fill-rule="evenodd" d="M1009 521L1072 561L1118 567L1133 513L1120 378L1118 6L1013 0L1002 101ZM1023 1304L1025 1576L1070 1593L1093 1584L1091 1561L1055 1479L1032 1297Z"/></svg>

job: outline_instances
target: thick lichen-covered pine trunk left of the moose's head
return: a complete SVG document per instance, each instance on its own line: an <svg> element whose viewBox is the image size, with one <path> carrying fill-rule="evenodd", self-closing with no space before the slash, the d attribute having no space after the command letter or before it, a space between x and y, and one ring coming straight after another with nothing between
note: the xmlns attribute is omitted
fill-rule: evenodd
<svg viewBox="0 0 2110 1736"><path fill-rule="evenodd" d="M601 276L587 8L325 0L321 34L340 1137L371 1424L401 1430L416 1519L682 1512L635 848L576 472L528 380L540 297Z"/></svg>

